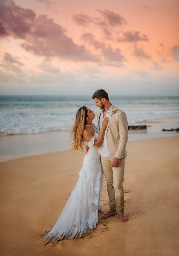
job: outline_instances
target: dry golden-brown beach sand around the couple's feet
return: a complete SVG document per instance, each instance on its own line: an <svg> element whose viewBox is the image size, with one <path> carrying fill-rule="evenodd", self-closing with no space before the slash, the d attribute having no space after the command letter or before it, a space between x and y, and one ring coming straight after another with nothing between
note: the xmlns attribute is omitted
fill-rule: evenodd
<svg viewBox="0 0 179 256"><path fill-rule="evenodd" d="M125 214L99 220L83 239L45 244L78 179L84 153L61 151L0 163L3 256L176 256L179 136L129 141ZM104 178L103 212L109 209ZM101 217L101 214L99 215Z"/></svg>

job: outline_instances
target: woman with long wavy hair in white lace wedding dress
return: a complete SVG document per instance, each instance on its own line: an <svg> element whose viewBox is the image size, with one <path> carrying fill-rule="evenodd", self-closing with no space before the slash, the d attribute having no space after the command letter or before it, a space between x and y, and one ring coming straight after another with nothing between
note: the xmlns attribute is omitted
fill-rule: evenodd
<svg viewBox="0 0 179 256"><path fill-rule="evenodd" d="M103 120L100 135L92 123L95 114L87 107L81 107L77 113L72 129L72 148L83 150L89 147L79 173L78 181L66 202L55 225L52 226L42 241L52 242L63 239L81 238L94 230L98 223L98 210L102 208L101 189L103 186L103 169L98 148L101 146L107 128L108 117Z"/></svg>

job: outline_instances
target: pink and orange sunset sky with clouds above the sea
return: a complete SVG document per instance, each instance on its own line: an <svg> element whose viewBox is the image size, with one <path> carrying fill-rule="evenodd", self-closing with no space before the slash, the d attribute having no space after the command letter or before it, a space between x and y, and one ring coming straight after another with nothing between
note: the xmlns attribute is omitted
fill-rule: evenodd
<svg viewBox="0 0 179 256"><path fill-rule="evenodd" d="M0 0L0 94L179 95L179 0Z"/></svg>

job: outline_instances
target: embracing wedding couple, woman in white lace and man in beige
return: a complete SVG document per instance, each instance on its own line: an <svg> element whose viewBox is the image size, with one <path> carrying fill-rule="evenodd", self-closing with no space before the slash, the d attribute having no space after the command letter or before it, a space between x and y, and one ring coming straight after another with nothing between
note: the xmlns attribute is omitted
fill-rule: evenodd
<svg viewBox="0 0 179 256"><path fill-rule="evenodd" d="M87 107L81 107L72 129L74 150L87 154L79 173L78 181L55 225L41 238L52 242L63 239L81 238L94 230L98 223L98 211L102 208L103 173L107 181L110 210L103 219L117 215L124 216L124 166L128 140L127 116L121 109L110 103L105 90L97 90L92 96L99 111L98 127L92 120L95 114Z"/></svg>

